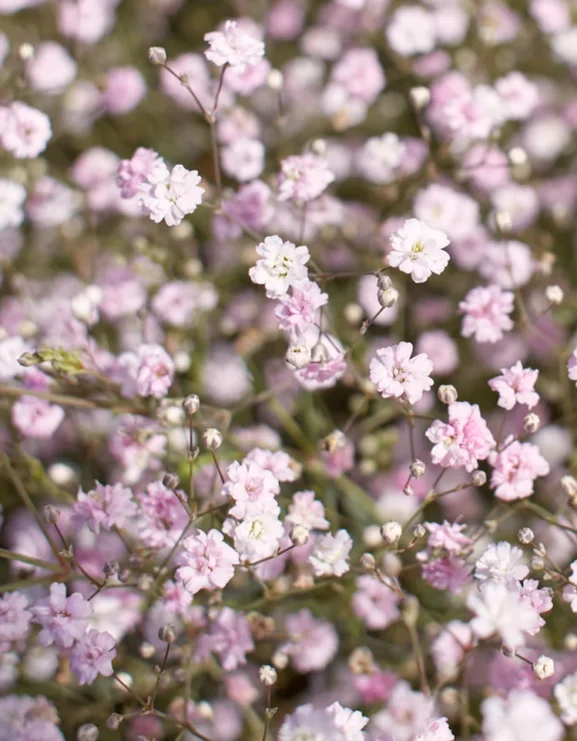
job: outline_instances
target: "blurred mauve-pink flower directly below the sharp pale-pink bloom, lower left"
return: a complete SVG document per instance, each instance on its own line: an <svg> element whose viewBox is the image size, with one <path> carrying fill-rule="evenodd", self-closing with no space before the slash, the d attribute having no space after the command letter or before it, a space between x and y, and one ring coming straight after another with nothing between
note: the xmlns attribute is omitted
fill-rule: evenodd
<svg viewBox="0 0 577 741"><path fill-rule="evenodd" d="M209 630L199 636L195 658L202 661L214 652L218 654L222 668L232 672L246 664L246 655L253 650L254 642L246 617L230 607L223 607Z"/></svg>

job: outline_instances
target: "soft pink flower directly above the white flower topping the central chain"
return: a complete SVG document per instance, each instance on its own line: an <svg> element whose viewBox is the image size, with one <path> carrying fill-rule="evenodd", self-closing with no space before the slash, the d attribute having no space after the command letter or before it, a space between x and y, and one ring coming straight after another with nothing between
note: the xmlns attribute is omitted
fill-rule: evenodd
<svg viewBox="0 0 577 741"><path fill-rule="evenodd" d="M312 152L287 157L281 162L278 199L308 203L318 198L334 179L323 157Z"/></svg>

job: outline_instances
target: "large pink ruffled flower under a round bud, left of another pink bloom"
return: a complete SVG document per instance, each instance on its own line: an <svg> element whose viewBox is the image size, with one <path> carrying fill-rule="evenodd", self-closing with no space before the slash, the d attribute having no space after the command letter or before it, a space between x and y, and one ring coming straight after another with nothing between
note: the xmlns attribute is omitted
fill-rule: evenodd
<svg viewBox="0 0 577 741"><path fill-rule="evenodd" d="M432 461L444 468L464 466L471 472L478 461L487 458L495 440L477 404L455 401L449 404L448 413L447 424L437 419L425 433L434 443Z"/></svg>

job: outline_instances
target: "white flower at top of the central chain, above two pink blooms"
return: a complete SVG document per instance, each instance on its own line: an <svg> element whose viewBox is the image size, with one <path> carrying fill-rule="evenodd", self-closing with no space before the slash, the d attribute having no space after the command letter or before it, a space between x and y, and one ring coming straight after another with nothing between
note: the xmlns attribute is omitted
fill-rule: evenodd
<svg viewBox="0 0 577 741"><path fill-rule="evenodd" d="M250 279L264 285L268 298L284 296L290 286L307 278L308 247L295 247L292 242L283 242L274 236L267 237L256 251L262 260L249 270Z"/></svg>

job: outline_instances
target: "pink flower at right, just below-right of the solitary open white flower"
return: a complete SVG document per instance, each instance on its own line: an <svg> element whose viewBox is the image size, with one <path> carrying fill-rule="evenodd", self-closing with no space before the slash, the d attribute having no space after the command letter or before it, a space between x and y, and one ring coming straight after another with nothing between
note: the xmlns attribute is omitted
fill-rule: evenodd
<svg viewBox="0 0 577 741"><path fill-rule="evenodd" d="M459 303L464 314L461 334L474 336L477 342L498 342L503 332L513 329L509 314L513 311L515 297L511 291L499 286L473 288Z"/></svg>

